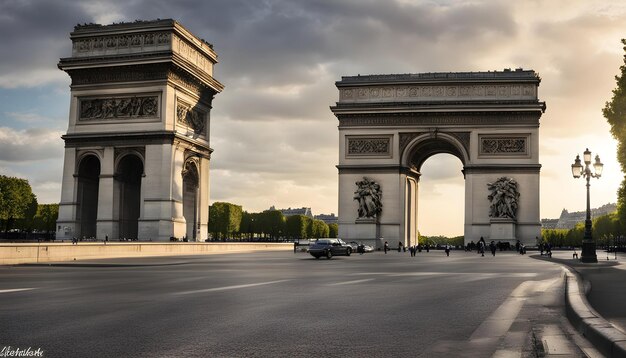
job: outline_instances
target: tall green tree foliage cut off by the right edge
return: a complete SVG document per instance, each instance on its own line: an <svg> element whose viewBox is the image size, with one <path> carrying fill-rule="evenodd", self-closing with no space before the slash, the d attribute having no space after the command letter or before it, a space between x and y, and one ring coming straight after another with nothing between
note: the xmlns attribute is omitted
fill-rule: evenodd
<svg viewBox="0 0 626 358"><path fill-rule="evenodd" d="M626 52L626 39L622 39ZM626 173L626 54L624 64L620 66L620 74L615 76L617 87L613 90L613 97L606 102L602 114L611 126L611 134L617 140L617 161L622 173ZM617 210L622 228L626 225L626 177L617 191Z"/></svg>

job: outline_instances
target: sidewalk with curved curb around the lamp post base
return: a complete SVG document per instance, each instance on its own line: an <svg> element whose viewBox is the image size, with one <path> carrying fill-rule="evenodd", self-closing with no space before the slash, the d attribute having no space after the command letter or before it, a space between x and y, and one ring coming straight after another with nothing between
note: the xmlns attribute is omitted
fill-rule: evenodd
<svg viewBox="0 0 626 358"><path fill-rule="evenodd" d="M572 258L573 251L555 250L552 258L569 267L566 306L572 325L607 357L626 357L626 255L597 250L598 263ZM580 250L578 250L580 255Z"/></svg>

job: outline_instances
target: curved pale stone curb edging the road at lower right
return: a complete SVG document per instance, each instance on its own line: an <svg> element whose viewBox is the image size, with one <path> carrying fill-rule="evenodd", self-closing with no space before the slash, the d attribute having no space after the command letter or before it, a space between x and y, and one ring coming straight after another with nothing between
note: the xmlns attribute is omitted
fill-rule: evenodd
<svg viewBox="0 0 626 358"><path fill-rule="evenodd" d="M565 270L565 311L570 323L607 357L626 358L626 334L596 312L585 295L580 275L570 267Z"/></svg>

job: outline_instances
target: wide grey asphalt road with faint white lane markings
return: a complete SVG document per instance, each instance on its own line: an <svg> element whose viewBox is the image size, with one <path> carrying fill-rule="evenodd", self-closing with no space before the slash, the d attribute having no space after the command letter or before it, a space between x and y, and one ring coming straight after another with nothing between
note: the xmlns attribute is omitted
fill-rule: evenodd
<svg viewBox="0 0 626 358"><path fill-rule="evenodd" d="M514 253L72 264L0 267L0 349L40 348L45 357L524 356L537 313L525 302L552 290L558 306L562 293L560 266Z"/></svg>

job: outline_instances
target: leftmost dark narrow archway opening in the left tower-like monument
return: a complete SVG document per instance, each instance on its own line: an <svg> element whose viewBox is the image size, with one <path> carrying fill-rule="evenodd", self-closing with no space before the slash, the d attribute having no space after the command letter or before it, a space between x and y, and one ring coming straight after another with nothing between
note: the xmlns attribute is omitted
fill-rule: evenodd
<svg viewBox="0 0 626 358"><path fill-rule="evenodd" d="M80 237L96 237L99 185L100 160L95 155L88 155L80 161L78 166L78 193L76 197Z"/></svg>

